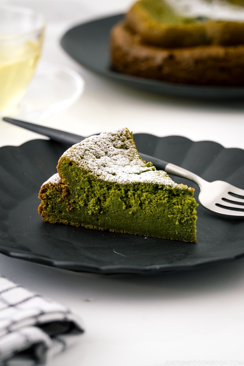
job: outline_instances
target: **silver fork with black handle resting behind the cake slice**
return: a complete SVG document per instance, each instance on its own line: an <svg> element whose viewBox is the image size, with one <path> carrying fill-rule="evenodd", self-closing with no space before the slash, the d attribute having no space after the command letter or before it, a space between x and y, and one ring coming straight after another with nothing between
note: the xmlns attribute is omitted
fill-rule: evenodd
<svg viewBox="0 0 244 366"><path fill-rule="evenodd" d="M71 134L69 132L56 130L40 126L35 123L29 123L21 120L16 120L8 117L3 118L4 121L15 124L16 126L26 128L27 130L37 132L41 135L50 137L54 141L70 143L70 145L80 142L84 137ZM228 216L244 218L244 190L232 186L222 180L207 182L195 173L192 173L184 168L178 167L172 163L168 163L161 159L139 153L141 158L146 161L151 161L153 165L160 170L164 170L169 174L177 175L195 182L200 187L198 196L199 202L205 208L212 212Z"/></svg>

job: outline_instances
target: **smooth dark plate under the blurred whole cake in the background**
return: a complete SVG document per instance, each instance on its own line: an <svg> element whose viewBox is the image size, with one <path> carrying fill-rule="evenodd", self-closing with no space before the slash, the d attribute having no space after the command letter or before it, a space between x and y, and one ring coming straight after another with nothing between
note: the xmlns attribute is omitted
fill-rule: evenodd
<svg viewBox="0 0 244 366"><path fill-rule="evenodd" d="M120 74L110 69L109 33L123 14L100 18L68 30L61 39L64 50L82 66L126 86L174 97L210 100L244 97L244 87L180 85Z"/></svg>

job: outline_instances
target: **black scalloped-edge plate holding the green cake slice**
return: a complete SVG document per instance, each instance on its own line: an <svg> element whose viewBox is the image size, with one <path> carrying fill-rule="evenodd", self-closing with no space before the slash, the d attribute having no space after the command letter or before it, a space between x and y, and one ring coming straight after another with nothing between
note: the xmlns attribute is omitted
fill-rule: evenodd
<svg viewBox="0 0 244 366"><path fill-rule="evenodd" d="M180 136L134 134L139 151L244 188L244 150ZM244 256L244 220L198 206L198 243L144 238L49 224L37 213L41 184L56 172L68 146L33 140L0 148L0 253L59 268L95 273L157 273ZM191 182L173 177L176 182Z"/></svg>

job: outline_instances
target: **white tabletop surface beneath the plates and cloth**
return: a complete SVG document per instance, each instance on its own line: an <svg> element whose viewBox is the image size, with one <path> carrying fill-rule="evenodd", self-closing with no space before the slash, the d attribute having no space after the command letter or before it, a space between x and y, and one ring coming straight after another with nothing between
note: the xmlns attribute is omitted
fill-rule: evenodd
<svg viewBox="0 0 244 366"><path fill-rule="evenodd" d="M46 126L83 136L126 126L244 149L244 103L184 101L129 89L87 71L61 49L69 27L125 11L131 1L5 2L43 11L48 25L42 60L70 66L86 82L79 100L42 121ZM35 138L40 136L0 122L0 146ZM0 255L0 273L83 318L85 335L48 366L243 365L244 259L157 276L104 276Z"/></svg>

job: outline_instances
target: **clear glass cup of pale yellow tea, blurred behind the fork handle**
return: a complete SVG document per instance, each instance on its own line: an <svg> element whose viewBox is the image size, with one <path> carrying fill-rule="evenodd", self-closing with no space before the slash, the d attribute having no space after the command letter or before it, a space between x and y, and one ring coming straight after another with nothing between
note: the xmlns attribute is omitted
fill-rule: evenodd
<svg viewBox="0 0 244 366"><path fill-rule="evenodd" d="M25 94L41 54L45 20L31 9L0 5L0 115Z"/></svg>

